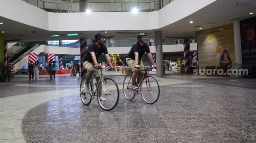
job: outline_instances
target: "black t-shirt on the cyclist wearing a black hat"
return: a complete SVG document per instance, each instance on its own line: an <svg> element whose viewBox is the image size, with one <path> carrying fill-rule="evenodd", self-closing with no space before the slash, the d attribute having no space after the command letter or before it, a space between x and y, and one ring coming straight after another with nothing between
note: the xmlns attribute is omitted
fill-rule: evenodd
<svg viewBox="0 0 256 143"><path fill-rule="evenodd" d="M98 57L102 54L109 54L107 52L107 47L105 45L103 45L101 48L98 48L96 43L90 44L87 48L87 52L83 58L83 61L89 61L89 62L93 62L93 58L90 54L90 52L94 52L96 55L96 59L98 61Z"/></svg>

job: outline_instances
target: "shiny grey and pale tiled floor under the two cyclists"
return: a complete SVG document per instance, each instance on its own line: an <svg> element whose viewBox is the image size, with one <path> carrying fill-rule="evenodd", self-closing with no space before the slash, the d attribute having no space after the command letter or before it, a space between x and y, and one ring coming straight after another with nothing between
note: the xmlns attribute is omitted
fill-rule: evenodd
<svg viewBox="0 0 256 143"><path fill-rule="evenodd" d="M155 75L153 75L155 77ZM160 98L103 111L79 97L80 77L0 82L0 143L256 142L256 79L165 75Z"/></svg>

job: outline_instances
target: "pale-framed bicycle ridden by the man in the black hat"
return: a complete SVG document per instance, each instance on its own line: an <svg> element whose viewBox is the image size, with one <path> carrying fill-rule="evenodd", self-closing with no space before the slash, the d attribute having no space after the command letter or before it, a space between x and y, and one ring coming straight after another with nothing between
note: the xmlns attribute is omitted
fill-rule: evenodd
<svg viewBox="0 0 256 143"><path fill-rule="evenodd" d="M94 67L95 68L95 67ZM100 74L93 76L89 81L89 93L82 94L82 90L85 86L86 77L81 80L80 83L80 97L84 105L89 105L91 101L97 96L97 101L103 110L110 111L116 107L119 100L119 89L116 82L113 79L107 78L102 73L102 67L100 69ZM98 84L94 87L93 81L96 77L100 76ZM95 90L94 90L95 88ZM103 91L103 94L102 94ZM106 98L105 101L100 101L99 96Z"/></svg>

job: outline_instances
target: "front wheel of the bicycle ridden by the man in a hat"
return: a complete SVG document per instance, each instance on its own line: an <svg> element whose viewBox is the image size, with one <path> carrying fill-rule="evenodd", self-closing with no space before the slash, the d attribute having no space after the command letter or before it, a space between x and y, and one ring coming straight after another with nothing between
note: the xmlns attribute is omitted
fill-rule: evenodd
<svg viewBox="0 0 256 143"><path fill-rule="evenodd" d="M104 78L97 89L97 99L100 107L106 111L110 111L116 107L119 100L119 89L113 79ZM105 98L104 101L101 99Z"/></svg>

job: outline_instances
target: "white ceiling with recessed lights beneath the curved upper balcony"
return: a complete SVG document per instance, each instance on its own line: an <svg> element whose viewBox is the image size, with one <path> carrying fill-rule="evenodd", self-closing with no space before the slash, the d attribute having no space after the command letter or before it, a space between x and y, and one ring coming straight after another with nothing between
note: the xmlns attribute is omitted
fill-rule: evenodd
<svg viewBox="0 0 256 143"><path fill-rule="evenodd" d="M254 14L249 14L254 12ZM196 38L196 31L199 27L210 29L221 25L233 23L234 19L243 20L254 17L256 14L256 0L217 0L207 5L196 13L193 13L182 20L172 23L161 29L145 30L148 37L154 38L155 30L162 30L163 39L167 38ZM189 23L189 21L194 23ZM8 31L5 34L6 41L47 41L47 40L64 40L64 39L94 39L94 34L102 31L73 31L73 32L56 32L38 29L7 18L0 17L0 30ZM198 26L198 27L197 27ZM195 28L196 27L196 28ZM34 31L34 32L33 32ZM114 36L115 39L136 38L136 35L142 31L108 31L104 33L106 37ZM78 36L51 38L53 34L80 33ZM25 36L22 36L25 35ZM34 39L31 39L31 38Z"/></svg>

